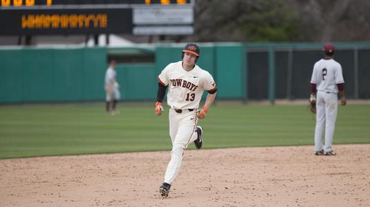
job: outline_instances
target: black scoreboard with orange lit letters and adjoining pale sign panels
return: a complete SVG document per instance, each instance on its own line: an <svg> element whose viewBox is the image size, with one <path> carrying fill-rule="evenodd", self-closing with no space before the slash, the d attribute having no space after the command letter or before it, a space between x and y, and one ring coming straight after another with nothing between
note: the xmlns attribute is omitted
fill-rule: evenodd
<svg viewBox="0 0 370 207"><path fill-rule="evenodd" d="M0 35L191 34L194 22L194 0L0 1Z"/></svg>

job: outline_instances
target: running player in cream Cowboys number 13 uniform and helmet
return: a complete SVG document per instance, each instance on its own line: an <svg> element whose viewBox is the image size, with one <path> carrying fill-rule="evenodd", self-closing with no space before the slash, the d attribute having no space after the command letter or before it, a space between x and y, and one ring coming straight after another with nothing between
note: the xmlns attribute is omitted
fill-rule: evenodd
<svg viewBox="0 0 370 207"><path fill-rule="evenodd" d="M169 136L172 141L171 160L165 172L165 180L159 188L162 197L168 197L172 181L180 170L184 149L192 142L196 148L202 147L203 128L196 124L198 119L205 117L216 98L216 83L212 75L195 64L200 52L199 46L188 43L183 48L183 61L169 63L158 76L155 112L156 115L162 114L162 101L168 88ZM203 108L198 111L204 90L208 92L207 99Z"/></svg>

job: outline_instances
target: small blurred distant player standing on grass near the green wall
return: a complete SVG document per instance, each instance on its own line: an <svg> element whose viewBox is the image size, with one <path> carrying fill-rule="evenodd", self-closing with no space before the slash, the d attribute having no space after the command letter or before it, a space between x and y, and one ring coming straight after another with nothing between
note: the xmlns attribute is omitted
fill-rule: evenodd
<svg viewBox="0 0 370 207"><path fill-rule="evenodd" d="M110 63L107 72L105 72L105 92L106 92L106 99L105 99L105 108L107 112L111 112L111 115L115 115L115 107L117 106L118 100L120 100L120 85L116 79L116 72L115 72L115 61L112 60ZM110 108L111 102L112 109Z"/></svg>

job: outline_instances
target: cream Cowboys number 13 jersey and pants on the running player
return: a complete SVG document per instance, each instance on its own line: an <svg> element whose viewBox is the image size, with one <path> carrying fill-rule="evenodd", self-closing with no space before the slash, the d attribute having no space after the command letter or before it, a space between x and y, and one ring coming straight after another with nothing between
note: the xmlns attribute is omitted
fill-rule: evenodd
<svg viewBox="0 0 370 207"><path fill-rule="evenodd" d="M170 63L158 76L158 81L163 86L169 86L167 105L171 108L169 136L172 141L172 154L165 173L167 184L172 184L180 170L184 149L197 139L196 111L204 90L216 88L216 83L209 72L196 65L192 70L186 71L182 67L182 62Z"/></svg>

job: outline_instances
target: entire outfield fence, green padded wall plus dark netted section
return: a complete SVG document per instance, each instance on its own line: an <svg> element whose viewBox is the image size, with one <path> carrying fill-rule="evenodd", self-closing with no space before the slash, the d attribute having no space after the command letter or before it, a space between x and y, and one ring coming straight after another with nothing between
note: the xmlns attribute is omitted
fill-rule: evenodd
<svg viewBox="0 0 370 207"><path fill-rule="evenodd" d="M156 99L156 76L181 60L184 43L129 48L0 48L0 103L104 100L109 59L118 61L123 101ZM198 65L214 76L218 99L307 99L322 43L200 43ZM335 43L349 99L370 99L370 42Z"/></svg>

